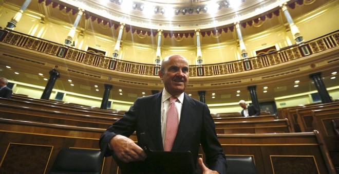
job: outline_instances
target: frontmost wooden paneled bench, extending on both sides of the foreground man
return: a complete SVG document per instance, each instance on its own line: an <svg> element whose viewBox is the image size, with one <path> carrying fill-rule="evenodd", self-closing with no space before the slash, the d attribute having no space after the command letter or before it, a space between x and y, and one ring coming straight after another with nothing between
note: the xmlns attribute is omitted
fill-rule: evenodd
<svg viewBox="0 0 339 174"><path fill-rule="evenodd" d="M25 151L21 161L38 159L37 173L48 173L61 148L99 149L99 137L105 129L75 127L17 121L0 118L0 158L3 165L18 159L15 153ZM289 134L218 135L226 155L253 156L258 173L334 173L324 142L317 132ZM136 136L130 137L136 141ZM36 153L39 152L39 153ZM203 159L205 158L201 153ZM13 159L14 158L14 159ZM36 167L36 164L38 167ZM10 163L20 173L30 172L30 166ZM0 167L0 170L2 168ZM32 172L32 171L31 171ZM105 158L103 174L120 173L115 161Z"/></svg>

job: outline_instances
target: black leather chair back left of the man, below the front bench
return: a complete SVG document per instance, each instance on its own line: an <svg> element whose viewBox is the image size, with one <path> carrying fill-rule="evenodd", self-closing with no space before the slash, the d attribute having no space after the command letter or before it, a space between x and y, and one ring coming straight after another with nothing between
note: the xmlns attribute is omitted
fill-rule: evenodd
<svg viewBox="0 0 339 174"><path fill-rule="evenodd" d="M56 157L50 174L88 173L100 174L103 157L100 150L63 148Z"/></svg>

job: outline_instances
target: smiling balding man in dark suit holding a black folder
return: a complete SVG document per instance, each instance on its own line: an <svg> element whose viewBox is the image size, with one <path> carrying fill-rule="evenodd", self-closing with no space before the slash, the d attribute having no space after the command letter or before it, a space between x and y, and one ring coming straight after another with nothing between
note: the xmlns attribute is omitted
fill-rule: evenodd
<svg viewBox="0 0 339 174"><path fill-rule="evenodd" d="M179 125L171 151L191 151L194 164L197 164L198 160L198 168L202 173L225 173L226 159L218 142L215 124L208 106L184 93L189 82L188 61L180 55L164 58L159 77L164 83L163 91L138 98L124 117L101 135L99 145L102 153L105 156L113 155L118 164L121 161L125 164L133 164L147 158L142 147L164 151L164 139L167 133L166 114L170 110L167 108L170 105L169 98L175 96ZM138 145L127 138L135 131ZM198 159L200 144L209 168L204 165L201 158ZM180 163L180 159L177 162Z"/></svg>

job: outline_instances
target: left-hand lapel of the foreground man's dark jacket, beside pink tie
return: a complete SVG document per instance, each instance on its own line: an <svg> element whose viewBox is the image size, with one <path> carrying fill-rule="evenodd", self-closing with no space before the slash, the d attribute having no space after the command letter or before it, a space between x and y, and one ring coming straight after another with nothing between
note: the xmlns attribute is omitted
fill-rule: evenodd
<svg viewBox="0 0 339 174"><path fill-rule="evenodd" d="M163 150L161 137L161 96L162 92L156 94L154 99L149 101L148 111L146 112L147 115L145 116L147 118L150 137L156 147L156 149L152 150Z"/></svg>

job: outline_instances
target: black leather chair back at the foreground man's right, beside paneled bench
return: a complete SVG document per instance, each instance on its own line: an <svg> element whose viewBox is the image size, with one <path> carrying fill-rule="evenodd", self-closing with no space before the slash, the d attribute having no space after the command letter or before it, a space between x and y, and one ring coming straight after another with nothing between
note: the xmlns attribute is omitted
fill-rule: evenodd
<svg viewBox="0 0 339 174"><path fill-rule="evenodd" d="M227 174L257 174L252 156L227 155Z"/></svg>

